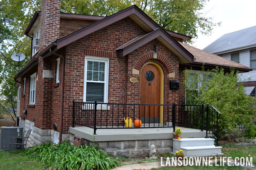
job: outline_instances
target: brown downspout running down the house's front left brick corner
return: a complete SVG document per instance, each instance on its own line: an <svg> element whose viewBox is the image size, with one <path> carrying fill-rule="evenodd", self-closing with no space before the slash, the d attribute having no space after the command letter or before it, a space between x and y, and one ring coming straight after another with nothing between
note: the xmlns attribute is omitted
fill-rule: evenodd
<svg viewBox="0 0 256 170"><path fill-rule="evenodd" d="M63 62L62 62L62 74L61 74L61 115L60 115L60 134L59 134L59 142L61 143L62 141L62 122L63 122L63 102L64 102L64 76L65 76L65 60L66 58L60 54L55 53L50 49L50 53L57 57L61 57Z"/></svg>

